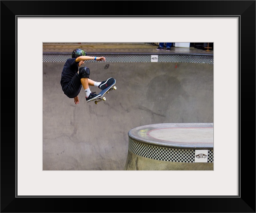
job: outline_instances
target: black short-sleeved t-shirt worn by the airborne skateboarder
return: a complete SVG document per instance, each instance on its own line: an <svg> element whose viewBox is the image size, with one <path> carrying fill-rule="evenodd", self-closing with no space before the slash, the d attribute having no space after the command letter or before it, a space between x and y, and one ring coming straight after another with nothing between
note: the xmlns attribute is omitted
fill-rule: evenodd
<svg viewBox="0 0 256 213"><path fill-rule="evenodd" d="M65 62L61 73L60 84L62 88L65 88L66 85L70 82L73 76L78 72L78 64L79 62L75 62L76 58L68 59Z"/></svg>

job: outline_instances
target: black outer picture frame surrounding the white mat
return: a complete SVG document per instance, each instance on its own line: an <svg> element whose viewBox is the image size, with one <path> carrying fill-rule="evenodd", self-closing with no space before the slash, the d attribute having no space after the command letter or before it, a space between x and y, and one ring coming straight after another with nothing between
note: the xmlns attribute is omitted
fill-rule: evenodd
<svg viewBox="0 0 256 213"><path fill-rule="evenodd" d="M1 1L1 212L255 212L255 1L120 2L119 7L113 1ZM16 17L84 15L240 17L239 196L16 196L17 61L14 66L10 57L16 50ZM223 47L227 54L229 45Z"/></svg>

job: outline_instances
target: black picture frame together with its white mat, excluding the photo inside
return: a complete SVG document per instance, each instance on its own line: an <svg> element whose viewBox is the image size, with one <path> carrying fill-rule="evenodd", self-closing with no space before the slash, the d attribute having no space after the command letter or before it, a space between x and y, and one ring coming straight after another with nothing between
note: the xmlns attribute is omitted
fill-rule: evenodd
<svg viewBox="0 0 256 213"><path fill-rule="evenodd" d="M120 2L1 1L1 212L255 212L255 1ZM42 44L168 40L214 42L214 170L43 171Z"/></svg>

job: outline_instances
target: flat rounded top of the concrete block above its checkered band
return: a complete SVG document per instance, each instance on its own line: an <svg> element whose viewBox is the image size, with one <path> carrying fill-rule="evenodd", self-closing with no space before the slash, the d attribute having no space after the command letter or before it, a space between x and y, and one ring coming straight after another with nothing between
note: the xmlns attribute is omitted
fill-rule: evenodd
<svg viewBox="0 0 256 213"><path fill-rule="evenodd" d="M213 149L213 123L158 123L138 126L128 136L148 145Z"/></svg>

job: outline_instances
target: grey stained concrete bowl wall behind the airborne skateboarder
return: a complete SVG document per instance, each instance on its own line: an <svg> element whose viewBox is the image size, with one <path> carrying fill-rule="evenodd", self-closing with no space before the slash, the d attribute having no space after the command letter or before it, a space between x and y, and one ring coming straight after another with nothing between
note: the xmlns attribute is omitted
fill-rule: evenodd
<svg viewBox="0 0 256 213"><path fill-rule="evenodd" d="M130 129L213 122L213 64L85 63L92 80L116 79L97 105L64 95L63 65L43 62L43 170L124 170Z"/></svg>

